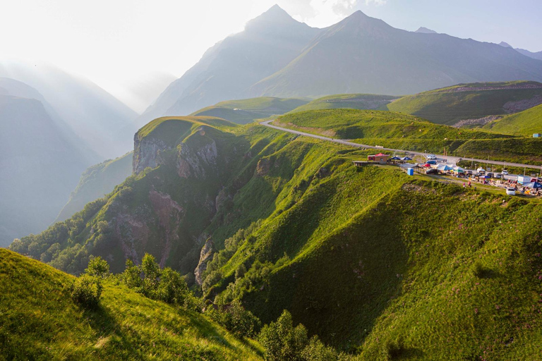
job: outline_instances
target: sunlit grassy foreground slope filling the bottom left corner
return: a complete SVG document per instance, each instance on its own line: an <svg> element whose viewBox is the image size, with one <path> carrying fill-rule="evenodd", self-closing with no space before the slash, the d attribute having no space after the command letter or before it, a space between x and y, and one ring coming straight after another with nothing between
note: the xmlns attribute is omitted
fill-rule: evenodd
<svg viewBox="0 0 542 361"><path fill-rule="evenodd" d="M0 359L259 360L200 314L106 284L96 311L81 310L66 286L73 276L0 249Z"/></svg>

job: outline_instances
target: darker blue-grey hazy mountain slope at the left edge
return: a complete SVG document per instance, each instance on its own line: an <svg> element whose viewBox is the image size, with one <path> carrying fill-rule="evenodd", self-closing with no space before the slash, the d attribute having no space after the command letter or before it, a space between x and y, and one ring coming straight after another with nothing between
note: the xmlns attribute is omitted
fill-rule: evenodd
<svg viewBox="0 0 542 361"><path fill-rule="evenodd" d="M41 102L0 95L0 245L47 228L89 164Z"/></svg>

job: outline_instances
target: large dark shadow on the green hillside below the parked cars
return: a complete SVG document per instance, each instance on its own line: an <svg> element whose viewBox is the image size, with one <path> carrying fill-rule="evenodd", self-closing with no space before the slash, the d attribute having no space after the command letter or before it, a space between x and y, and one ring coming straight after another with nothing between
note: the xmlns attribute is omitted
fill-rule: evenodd
<svg viewBox="0 0 542 361"><path fill-rule="evenodd" d="M381 202L311 254L271 274L268 286L243 302L263 323L286 309L294 323L325 343L356 348L402 293L409 256L402 231L390 221L400 216Z"/></svg>

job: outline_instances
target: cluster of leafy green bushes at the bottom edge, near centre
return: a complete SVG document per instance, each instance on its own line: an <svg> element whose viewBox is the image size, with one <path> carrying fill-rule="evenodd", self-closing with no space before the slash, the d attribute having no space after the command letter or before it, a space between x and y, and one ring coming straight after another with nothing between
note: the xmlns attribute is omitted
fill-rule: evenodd
<svg viewBox="0 0 542 361"><path fill-rule="evenodd" d="M324 345L318 336L308 338L305 326L298 324L294 327L291 314L287 310L282 312L276 322L263 326L258 338L265 349L267 360L347 361L354 358Z"/></svg>

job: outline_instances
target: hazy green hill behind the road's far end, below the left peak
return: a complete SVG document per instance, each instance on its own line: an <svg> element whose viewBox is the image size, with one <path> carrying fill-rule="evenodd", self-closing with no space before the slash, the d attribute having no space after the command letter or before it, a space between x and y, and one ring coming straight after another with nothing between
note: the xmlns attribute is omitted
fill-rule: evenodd
<svg viewBox="0 0 542 361"><path fill-rule="evenodd" d="M195 111L191 116L215 116L233 123L246 124L255 119L287 113L306 103L306 99L275 97L229 100Z"/></svg>

